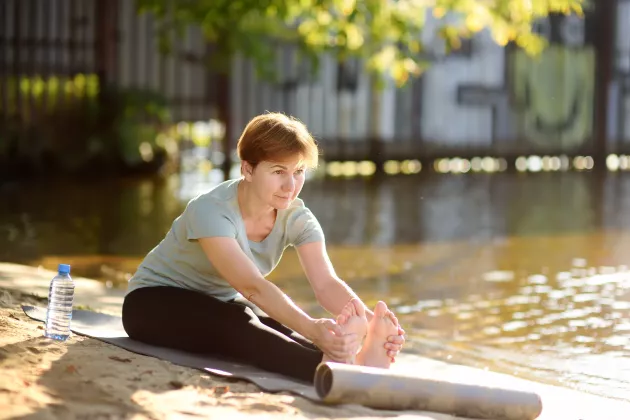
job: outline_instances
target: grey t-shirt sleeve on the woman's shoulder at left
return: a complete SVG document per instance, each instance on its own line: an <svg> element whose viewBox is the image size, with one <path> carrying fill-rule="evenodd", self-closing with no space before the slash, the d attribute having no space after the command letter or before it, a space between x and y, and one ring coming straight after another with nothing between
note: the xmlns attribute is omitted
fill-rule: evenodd
<svg viewBox="0 0 630 420"><path fill-rule="evenodd" d="M236 227L229 210L212 200L194 200L184 212L189 241L210 237L236 237Z"/></svg>

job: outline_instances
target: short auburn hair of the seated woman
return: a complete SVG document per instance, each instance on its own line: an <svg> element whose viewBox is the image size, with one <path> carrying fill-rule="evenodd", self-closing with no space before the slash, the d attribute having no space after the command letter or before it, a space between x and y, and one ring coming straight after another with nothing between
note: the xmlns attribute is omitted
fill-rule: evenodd
<svg viewBox="0 0 630 420"><path fill-rule="evenodd" d="M262 161L280 162L300 156L308 168L316 168L319 150L300 120L279 112L258 115L247 123L236 146L238 157L256 167Z"/></svg>

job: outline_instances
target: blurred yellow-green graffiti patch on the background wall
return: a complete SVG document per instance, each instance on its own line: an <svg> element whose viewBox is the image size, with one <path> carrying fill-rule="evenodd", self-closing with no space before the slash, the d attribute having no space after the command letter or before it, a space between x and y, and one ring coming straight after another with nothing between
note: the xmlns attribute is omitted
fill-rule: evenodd
<svg viewBox="0 0 630 420"><path fill-rule="evenodd" d="M552 17L538 23L551 41L539 57L513 50L509 87L517 135L542 148L575 147L591 138L595 48L585 20Z"/></svg>

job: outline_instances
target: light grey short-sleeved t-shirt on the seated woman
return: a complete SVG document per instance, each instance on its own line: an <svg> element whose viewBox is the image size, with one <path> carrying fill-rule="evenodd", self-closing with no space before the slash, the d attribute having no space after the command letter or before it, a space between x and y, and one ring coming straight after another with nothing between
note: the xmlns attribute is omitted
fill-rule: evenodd
<svg viewBox="0 0 630 420"><path fill-rule="evenodd" d="M278 210L273 229L263 241L250 241L237 200L240 181L224 181L192 199L165 238L144 258L129 280L127 294L141 287L175 286L223 301L237 297L238 292L208 260L199 238L235 238L263 276L276 267L287 247L324 240L319 222L296 198L288 209Z"/></svg>

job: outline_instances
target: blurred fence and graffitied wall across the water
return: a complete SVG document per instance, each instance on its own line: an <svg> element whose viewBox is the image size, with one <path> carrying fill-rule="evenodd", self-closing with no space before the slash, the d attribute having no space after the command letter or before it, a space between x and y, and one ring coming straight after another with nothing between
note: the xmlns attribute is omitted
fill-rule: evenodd
<svg viewBox="0 0 630 420"><path fill-rule="evenodd" d="M436 24L429 17L422 35L433 65L402 89L375 92L360 63L330 57L312 77L290 46L278 46L273 84L235 57L223 113L231 141L269 110L302 119L329 159L630 151L629 1L598 1L585 19L541 20L536 31L551 45L539 59L485 32L446 55ZM175 122L219 117L223 82L204 67L211 48L201 31L189 28L163 56L155 29L133 1L0 0L0 125L32 114L38 100L63 100L47 94L50 80L66 93L159 92Z"/></svg>

